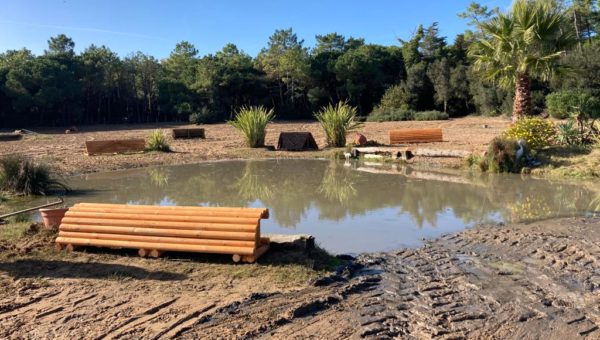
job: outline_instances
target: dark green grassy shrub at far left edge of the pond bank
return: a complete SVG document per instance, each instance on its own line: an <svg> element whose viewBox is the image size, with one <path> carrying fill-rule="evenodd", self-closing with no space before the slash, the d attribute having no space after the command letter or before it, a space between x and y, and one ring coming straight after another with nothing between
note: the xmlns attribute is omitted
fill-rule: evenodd
<svg viewBox="0 0 600 340"><path fill-rule="evenodd" d="M33 163L21 155L0 159L0 191L17 195L45 195L52 190L69 190L53 178L45 165Z"/></svg>

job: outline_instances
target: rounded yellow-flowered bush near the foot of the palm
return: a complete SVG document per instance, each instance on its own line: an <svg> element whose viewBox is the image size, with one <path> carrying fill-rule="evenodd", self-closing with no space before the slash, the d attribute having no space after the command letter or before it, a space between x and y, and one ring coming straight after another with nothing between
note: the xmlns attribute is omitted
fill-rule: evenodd
<svg viewBox="0 0 600 340"><path fill-rule="evenodd" d="M504 137L513 140L522 139L532 149L549 146L556 137L556 127L549 120L540 118L523 118L504 133Z"/></svg>

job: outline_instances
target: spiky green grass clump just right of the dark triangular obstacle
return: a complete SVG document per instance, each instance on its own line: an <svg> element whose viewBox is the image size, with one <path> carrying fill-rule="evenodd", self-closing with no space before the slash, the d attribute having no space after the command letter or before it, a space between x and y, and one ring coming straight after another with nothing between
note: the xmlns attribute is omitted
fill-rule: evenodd
<svg viewBox="0 0 600 340"><path fill-rule="evenodd" d="M315 118L321 124L327 144L329 146L342 147L346 145L346 134L361 126L356 120L356 108L346 102L337 105L327 105L315 114Z"/></svg>

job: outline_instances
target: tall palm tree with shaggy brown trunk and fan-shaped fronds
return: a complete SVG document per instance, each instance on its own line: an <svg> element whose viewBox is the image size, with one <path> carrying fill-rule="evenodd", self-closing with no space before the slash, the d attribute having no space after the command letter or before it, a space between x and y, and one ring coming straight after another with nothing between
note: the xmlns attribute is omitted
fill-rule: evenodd
<svg viewBox="0 0 600 340"><path fill-rule="evenodd" d="M484 78L515 89L513 121L531 112L531 78L548 80L575 42L569 18L553 0L515 0L508 13L481 22L482 38L471 46Z"/></svg>

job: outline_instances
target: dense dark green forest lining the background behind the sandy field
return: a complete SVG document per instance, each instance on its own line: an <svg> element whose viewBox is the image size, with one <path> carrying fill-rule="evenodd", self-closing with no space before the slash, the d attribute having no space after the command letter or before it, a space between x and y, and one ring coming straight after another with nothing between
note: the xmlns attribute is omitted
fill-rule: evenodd
<svg viewBox="0 0 600 340"><path fill-rule="evenodd" d="M579 88L600 96L597 1L556 6L570 18L568 29L577 39L559 61L571 72L531 79L530 114L544 111L552 91ZM419 26L396 46L329 33L308 47L291 28L281 29L256 57L234 44L199 56L186 41L164 60L141 52L121 58L95 45L76 54L75 42L58 35L39 56L25 48L0 54L0 127L209 123L231 119L242 105L274 107L279 119L306 119L339 101L362 116L387 108L450 117L510 114L514 90L483 77L469 53L485 34L481 23L498 13L471 4L459 14L470 29L452 43L437 23Z"/></svg>

